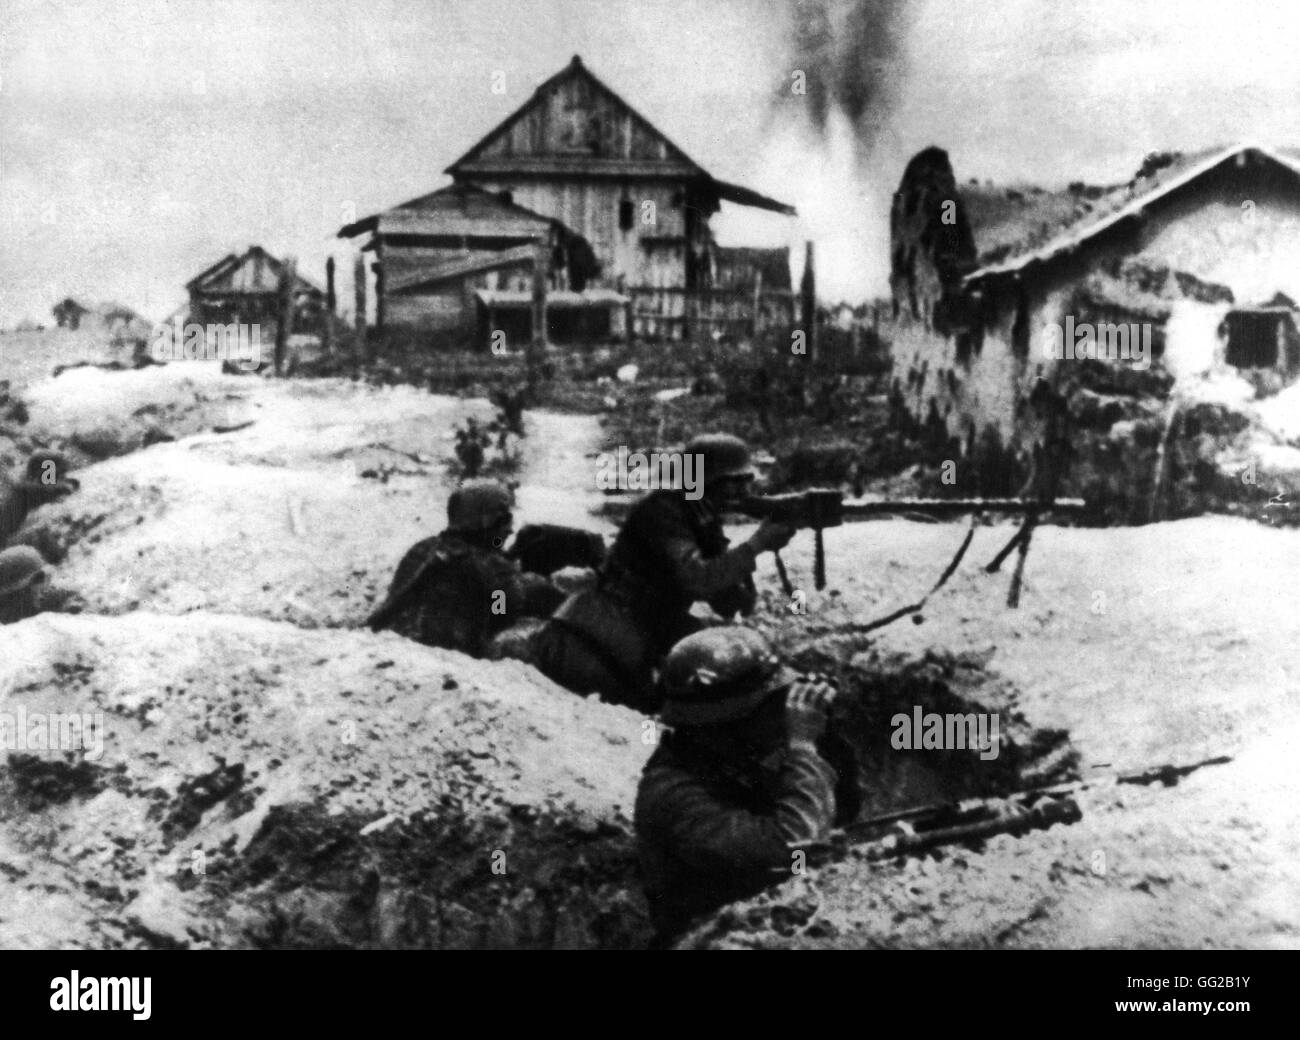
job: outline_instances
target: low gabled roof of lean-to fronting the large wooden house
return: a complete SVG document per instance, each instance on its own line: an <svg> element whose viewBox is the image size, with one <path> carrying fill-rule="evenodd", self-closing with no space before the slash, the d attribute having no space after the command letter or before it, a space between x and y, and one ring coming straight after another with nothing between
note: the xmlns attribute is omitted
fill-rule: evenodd
<svg viewBox="0 0 1300 1040"><path fill-rule="evenodd" d="M500 194L454 183L399 203L339 229L339 238L367 231L381 235L464 235L467 238L536 238L558 221L543 217Z"/></svg>

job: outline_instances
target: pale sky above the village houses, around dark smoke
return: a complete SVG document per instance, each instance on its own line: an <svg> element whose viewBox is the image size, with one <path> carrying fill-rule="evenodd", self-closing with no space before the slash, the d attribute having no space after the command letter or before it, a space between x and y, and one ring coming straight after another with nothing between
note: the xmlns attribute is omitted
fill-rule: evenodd
<svg viewBox="0 0 1300 1040"><path fill-rule="evenodd" d="M1300 144L1300 5L920 0L866 169L774 122L779 0L0 0L0 325L66 294L161 317L259 242L348 300L356 214L442 169L573 53L697 161L800 207L724 207L731 244L818 242L826 298L883 290L906 159L957 177L1121 179L1153 148ZM507 94L490 91L503 70ZM784 107L789 109L789 104Z"/></svg>

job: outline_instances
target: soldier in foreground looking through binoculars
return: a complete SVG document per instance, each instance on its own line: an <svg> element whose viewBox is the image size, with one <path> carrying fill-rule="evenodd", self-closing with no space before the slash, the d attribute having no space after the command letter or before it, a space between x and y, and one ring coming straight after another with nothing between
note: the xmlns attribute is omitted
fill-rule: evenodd
<svg viewBox="0 0 1300 1040"><path fill-rule="evenodd" d="M656 945L788 878L826 837L837 772L819 751L833 685L786 668L759 633L688 636L660 677L664 725L637 790L636 833Z"/></svg>

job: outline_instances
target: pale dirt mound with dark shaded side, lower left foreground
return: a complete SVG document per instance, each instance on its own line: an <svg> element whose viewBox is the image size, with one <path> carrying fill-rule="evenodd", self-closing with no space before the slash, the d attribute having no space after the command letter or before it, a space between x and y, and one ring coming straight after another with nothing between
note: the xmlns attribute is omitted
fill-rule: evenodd
<svg viewBox="0 0 1300 1040"><path fill-rule="evenodd" d="M44 615L4 710L101 755L0 784L6 946L628 946L641 719L396 636Z"/></svg>

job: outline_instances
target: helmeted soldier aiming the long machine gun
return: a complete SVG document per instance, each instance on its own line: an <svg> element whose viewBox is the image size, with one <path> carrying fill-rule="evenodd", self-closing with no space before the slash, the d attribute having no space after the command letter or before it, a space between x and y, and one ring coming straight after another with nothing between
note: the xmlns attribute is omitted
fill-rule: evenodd
<svg viewBox="0 0 1300 1040"><path fill-rule="evenodd" d="M729 434L686 445L702 463L701 494L651 491L628 514L595 588L569 597L534 641L547 676L577 693L654 711L654 670L670 647L701 623L692 604L706 602L723 618L754 608L754 567L760 552L794 534L763 521L732 547L723 514L746 495L754 477L749 448Z"/></svg>

